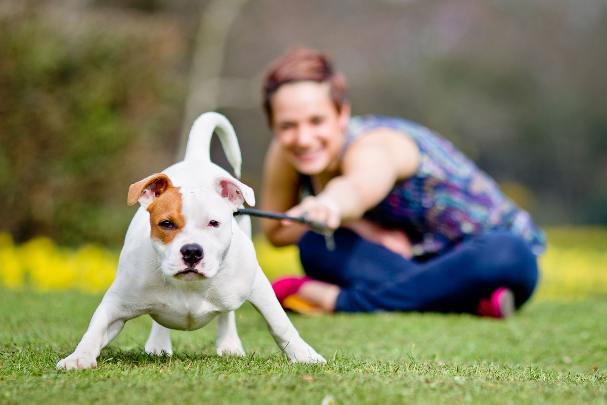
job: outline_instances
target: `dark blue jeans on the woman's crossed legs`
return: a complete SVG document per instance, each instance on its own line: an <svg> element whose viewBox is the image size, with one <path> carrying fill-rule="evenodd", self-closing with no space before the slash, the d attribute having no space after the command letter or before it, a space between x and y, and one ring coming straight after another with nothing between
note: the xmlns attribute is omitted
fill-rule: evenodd
<svg viewBox="0 0 607 405"><path fill-rule="evenodd" d="M437 311L474 313L481 298L500 287L520 307L538 280L537 259L509 231L495 231L427 260L404 257L346 228L334 233L336 249L308 232L299 245L305 273L341 287L336 311Z"/></svg>

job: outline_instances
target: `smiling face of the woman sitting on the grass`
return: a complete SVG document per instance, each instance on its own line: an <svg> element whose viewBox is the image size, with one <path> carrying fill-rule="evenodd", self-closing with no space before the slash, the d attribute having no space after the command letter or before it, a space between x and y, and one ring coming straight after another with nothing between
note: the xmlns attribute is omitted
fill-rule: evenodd
<svg viewBox="0 0 607 405"><path fill-rule="evenodd" d="M336 171L350 117L349 106L338 112L328 83L283 84L271 98L272 131L288 162L302 174Z"/></svg>

